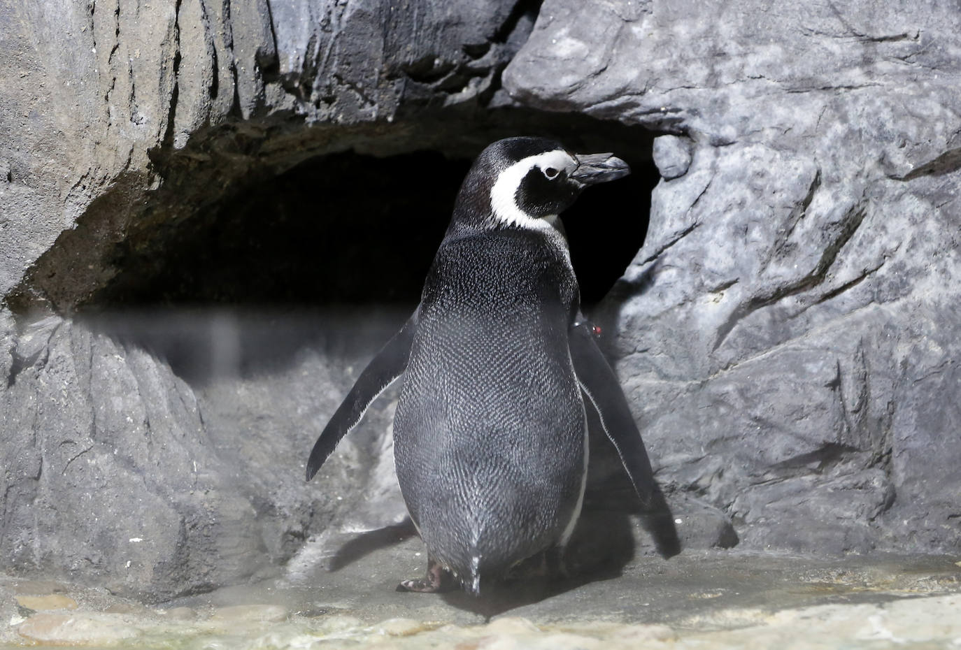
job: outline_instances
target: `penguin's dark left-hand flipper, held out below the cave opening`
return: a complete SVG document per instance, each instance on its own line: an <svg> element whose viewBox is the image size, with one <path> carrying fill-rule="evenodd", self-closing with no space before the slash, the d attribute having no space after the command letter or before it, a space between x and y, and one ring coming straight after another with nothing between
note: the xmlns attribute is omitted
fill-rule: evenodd
<svg viewBox="0 0 961 650"><path fill-rule="evenodd" d="M347 397L340 402L340 406L333 412L331 421L327 423L317 442L310 451L307 462L307 480L313 478L317 470L333 453L333 449L347 433L357 426L371 403L380 396L387 386L407 370L407 359L410 356L410 346L413 343L414 331L417 328L417 317L420 309L407 319L401 330L387 341L381 351L371 360L367 367L357 377L357 383Z"/></svg>

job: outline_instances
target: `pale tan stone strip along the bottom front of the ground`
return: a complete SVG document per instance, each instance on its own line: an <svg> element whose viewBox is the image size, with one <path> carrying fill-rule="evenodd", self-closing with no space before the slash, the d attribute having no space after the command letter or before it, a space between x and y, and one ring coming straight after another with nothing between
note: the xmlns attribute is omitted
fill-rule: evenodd
<svg viewBox="0 0 961 650"><path fill-rule="evenodd" d="M902 599L890 603L833 604L768 612L726 610L685 621L682 631L648 623L550 621L534 624L521 616L505 616L476 625L438 625L391 618L374 625L328 615L290 623L253 618L220 630L214 619L190 626L158 624L149 618L111 614L35 614L17 626L21 638L50 645L115 645L136 647L152 640L235 644L253 640L273 648L301 648L323 643L329 648L463 647L563 648L598 650L645 647L707 650L771 647L821 648L842 640L849 648L875 648L878 642L949 647L961 634L952 616L961 604L957 595ZM812 621L816 624L812 626ZM241 633L245 636L241 636Z"/></svg>

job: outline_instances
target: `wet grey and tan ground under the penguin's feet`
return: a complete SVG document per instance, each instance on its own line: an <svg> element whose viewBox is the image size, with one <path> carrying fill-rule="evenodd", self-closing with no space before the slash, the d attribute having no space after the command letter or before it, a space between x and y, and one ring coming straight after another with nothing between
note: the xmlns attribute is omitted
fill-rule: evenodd
<svg viewBox="0 0 961 650"><path fill-rule="evenodd" d="M347 542L346 555L317 545L272 580L152 607L8 576L0 647L961 648L961 558L685 551L476 600L395 590L424 568L416 538Z"/></svg>

